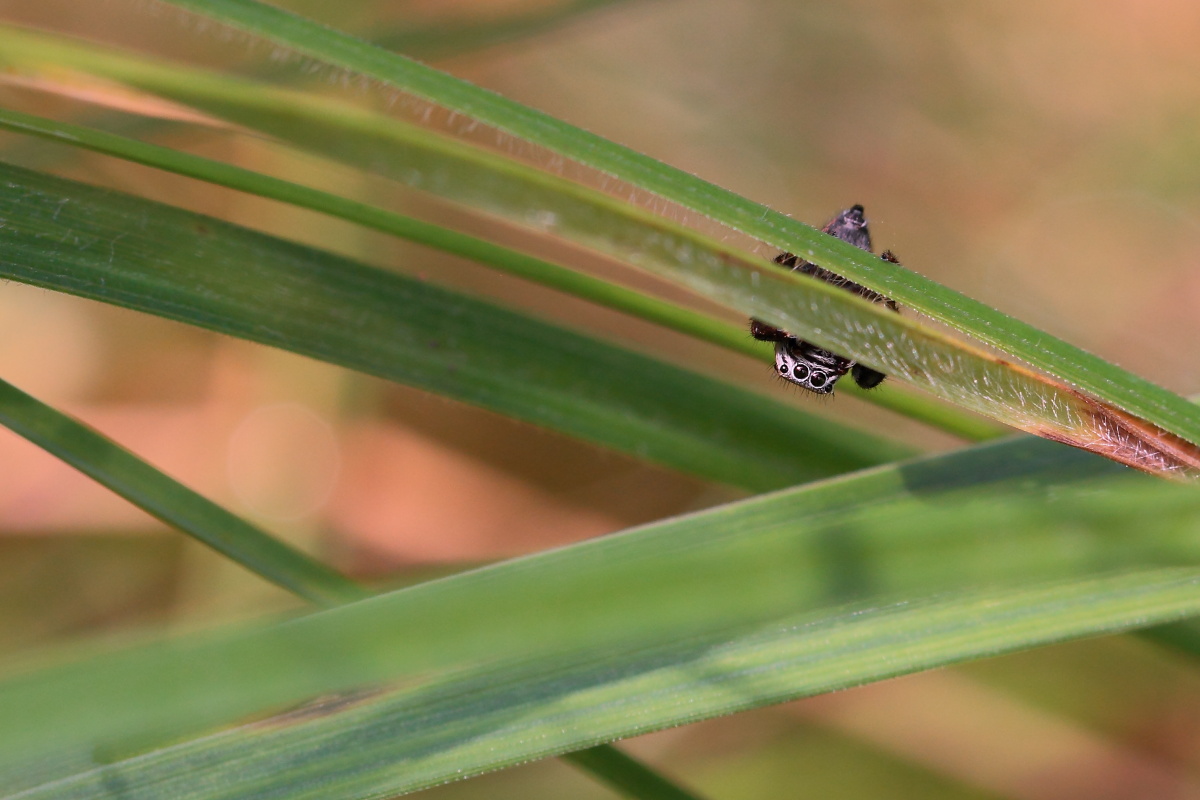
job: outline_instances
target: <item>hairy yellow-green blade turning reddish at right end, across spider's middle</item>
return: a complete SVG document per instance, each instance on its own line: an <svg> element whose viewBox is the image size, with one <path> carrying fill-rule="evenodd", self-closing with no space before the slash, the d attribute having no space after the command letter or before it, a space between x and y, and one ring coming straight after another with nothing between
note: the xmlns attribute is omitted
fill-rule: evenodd
<svg viewBox="0 0 1200 800"><path fill-rule="evenodd" d="M1200 447L942 332L607 194L408 122L205 73L146 65L8 31L7 58L62 60L162 92L457 201L623 258L985 416L1172 477ZM304 120L302 124L298 124Z"/></svg>

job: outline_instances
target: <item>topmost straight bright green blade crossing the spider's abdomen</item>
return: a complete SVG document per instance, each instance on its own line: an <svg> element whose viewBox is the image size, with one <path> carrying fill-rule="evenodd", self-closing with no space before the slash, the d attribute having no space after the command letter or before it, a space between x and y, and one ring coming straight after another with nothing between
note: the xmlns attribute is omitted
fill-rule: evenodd
<svg viewBox="0 0 1200 800"><path fill-rule="evenodd" d="M426 98L628 181L638 190L656 193L755 239L800 254L1049 374L1061 377L1068 384L1193 445L1200 443L1200 413L1182 397L934 281L869 258L845 242L823 236L809 225L694 175L404 56L254 0L166 1ZM791 320L780 318L768 321ZM860 357L870 366L880 366L866 356Z"/></svg>

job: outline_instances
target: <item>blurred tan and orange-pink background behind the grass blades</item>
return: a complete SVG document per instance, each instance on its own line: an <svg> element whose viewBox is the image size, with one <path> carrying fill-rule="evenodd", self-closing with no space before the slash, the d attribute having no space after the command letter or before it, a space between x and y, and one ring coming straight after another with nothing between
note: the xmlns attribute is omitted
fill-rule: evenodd
<svg viewBox="0 0 1200 800"><path fill-rule="evenodd" d="M0 19L186 50L148 4ZM906 266L1200 392L1200 5L782 0L277 2L811 224L854 203ZM140 16L140 17L139 17ZM144 22L137 23L144 17ZM134 22L131 22L134 20ZM178 37L173 40L172 37ZM248 58L248 56L247 56ZM0 84L0 103L88 121ZM378 199L266 143L145 136ZM684 361L926 450L946 435L770 369L349 225L98 157L6 160L245 222ZM402 386L40 289L0 291L0 374L353 575L398 585L737 497ZM290 601L0 432L0 648ZM628 747L713 798L1200 798L1200 679L1082 642L718 720ZM557 762L428 798L612 796Z"/></svg>

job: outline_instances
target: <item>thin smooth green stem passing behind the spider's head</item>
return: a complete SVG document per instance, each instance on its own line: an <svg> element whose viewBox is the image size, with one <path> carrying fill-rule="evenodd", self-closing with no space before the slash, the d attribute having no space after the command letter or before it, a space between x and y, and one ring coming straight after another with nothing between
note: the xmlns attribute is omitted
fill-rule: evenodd
<svg viewBox="0 0 1200 800"><path fill-rule="evenodd" d="M168 148L18 112L0 109L0 127L68 143L328 213L374 230L478 260L510 275L535 281L542 285L640 317L734 353L773 363L770 348L748 337L744 327L733 326L683 306L412 217ZM859 397L865 397L906 416L936 425L949 433L968 439L991 439L1003 433L1002 428L992 426L980 417L961 414L953 407L935 405L924 396L895 390L893 385L872 392L859 390L853 384L846 389Z"/></svg>

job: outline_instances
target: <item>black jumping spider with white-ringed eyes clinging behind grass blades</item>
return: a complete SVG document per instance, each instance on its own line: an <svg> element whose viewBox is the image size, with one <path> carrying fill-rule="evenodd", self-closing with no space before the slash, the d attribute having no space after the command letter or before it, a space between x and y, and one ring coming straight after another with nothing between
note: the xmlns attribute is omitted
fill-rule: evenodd
<svg viewBox="0 0 1200 800"><path fill-rule="evenodd" d="M821 230L830 236L836 236L845 242L850 242L854 247L860 247L869 253L871 252L871 234L866 230L866 217L863 216L863 206L860 205L846 209L830 219L829 224ZM892 254L892 251L886 251L881 258L893 264L900 263ZM775 264L788 270L799 270L804 275L811 275L826 283L853 291L871 302L882 302L892 311L900 311L900 306L896 305L895 300L884 297L878 291L872 291L866 287L847 281L840 275L805 261L792 253L780 253L775 257ZM774 342L775 371L781 378L811 392L818 395L832 393L833 385L847 372L851 373L854 383L863 389L875 389L883 383L884 375L882 372L864 367L836 353L823 350L816 344L798 339L787 331L773 327L761 320L750 320L750 335L762 342Z"/></svg>

